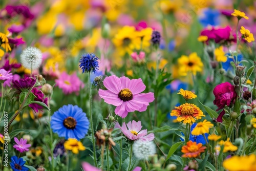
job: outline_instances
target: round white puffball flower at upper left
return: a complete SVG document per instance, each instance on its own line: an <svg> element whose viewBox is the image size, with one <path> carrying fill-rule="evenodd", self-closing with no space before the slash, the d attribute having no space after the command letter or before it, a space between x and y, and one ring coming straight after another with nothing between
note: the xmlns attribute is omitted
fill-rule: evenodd
<svg viewBox="0 0 256 171"><path fill-rule="evenodd" d="M22 65L29 70L38 69L42 63L42 53L35 47L28 47L20 54L20 61Z"/></svg>

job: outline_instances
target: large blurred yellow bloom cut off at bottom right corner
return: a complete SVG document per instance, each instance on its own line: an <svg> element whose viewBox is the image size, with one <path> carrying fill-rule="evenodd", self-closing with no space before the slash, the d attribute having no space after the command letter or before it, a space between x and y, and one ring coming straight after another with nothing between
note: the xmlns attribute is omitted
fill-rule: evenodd
<svg viewBox="0 0 256 171"><path fill-rule="evenodd" d="M256 155L233 156L224 160L223 167L229 171L255 171Z"/></svg>

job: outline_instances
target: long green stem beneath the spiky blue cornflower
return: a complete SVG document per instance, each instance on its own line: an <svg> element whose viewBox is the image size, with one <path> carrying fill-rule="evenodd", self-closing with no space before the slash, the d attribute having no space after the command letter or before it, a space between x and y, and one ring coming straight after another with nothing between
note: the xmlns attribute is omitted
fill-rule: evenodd
<svg viewBox="0 0 256 171"><path fill-rule="evenodd" d="M93 129L92 90L91 90L90 72L89 72L89 76L88 76L88 89L89 89L89 115L90 115L90 123L91 123L91 129L92 129L92 141L93 141L93 157L94 157L94 164L96 167L98 167L97 160L96 160L96 146L95 146L94 129Z"/></svg>

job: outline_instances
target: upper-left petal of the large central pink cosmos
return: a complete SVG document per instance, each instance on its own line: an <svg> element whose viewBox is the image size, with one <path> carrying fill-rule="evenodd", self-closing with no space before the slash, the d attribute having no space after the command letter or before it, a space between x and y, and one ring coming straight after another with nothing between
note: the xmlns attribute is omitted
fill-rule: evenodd
<svg viewBox="0 0 256 171"><path fill-rule="evenodd" d="M103 84L104 84L106 89L108 89L109 91L111 91L115 94L118 94L120 92L120 90L122 90L121 81L115 75L111 75L109 77L106 77L103 81Z"/></svg>

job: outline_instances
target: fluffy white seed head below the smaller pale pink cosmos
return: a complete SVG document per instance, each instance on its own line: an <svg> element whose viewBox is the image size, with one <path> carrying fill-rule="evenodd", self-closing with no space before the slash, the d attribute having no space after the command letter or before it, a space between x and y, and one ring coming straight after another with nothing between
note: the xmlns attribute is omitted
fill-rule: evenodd
<svg viewBox="0 0 256 171"><path fill-rule="evenodd" d="M133 144L134 156L139 160L147 160L149 156L156 154L156 145L153 141L136 140Z"/></svg>

